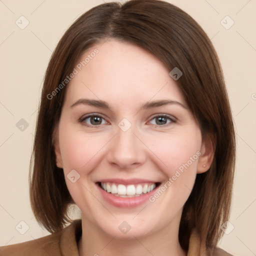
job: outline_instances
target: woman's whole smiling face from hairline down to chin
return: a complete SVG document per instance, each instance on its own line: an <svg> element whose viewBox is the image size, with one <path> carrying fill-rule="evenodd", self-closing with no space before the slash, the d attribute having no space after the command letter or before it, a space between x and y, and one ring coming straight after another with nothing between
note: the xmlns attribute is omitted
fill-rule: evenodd
<svg viewBox="0 0 256 256"><path fill-rule="evenodd" d="M108 235L177 230L196 173L209 167L169 71L144 49L107 40L81 56L68 84L57 166L83 221Z"/></svg>

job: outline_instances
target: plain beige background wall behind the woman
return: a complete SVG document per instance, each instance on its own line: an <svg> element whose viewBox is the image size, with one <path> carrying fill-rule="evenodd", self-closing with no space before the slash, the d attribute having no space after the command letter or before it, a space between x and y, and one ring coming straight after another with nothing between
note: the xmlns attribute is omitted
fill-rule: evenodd
<svg viewBox="0 0 256 256"><path fill-rule="evenodd" d="M0 0L0 245L48 234L35 221L28 197L28 167L43 75L66 28L82 12L102 2ZM219 246L235 255L256 255L256 1L169 2L188 12L211 38L234 116L237 165L228 230L234 229L223 236ZM19 28L25 24L24 18L21 24L21 15L29 21L24 29ZM224 18L226 15L234 21L229 29L224 26L232 20ZM23 131L16 127L21 118L28 123ZM20 221L29 226L24 234L15 228L23 223Z"/></svg>

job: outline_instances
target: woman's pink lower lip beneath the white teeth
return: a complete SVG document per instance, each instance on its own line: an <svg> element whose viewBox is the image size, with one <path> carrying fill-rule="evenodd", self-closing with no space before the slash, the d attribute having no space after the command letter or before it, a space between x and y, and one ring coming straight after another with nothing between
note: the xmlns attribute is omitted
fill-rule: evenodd
<svg viewBox="0 0 256 256"><path fill-rule="evenodd" d="M155 193L155 188L146 193L139 196L134 197L119 197L115 196L111 193L106 192L104 189L102 189L99 185L96 184L98 187L102 197L110 204L120 207L120 208L131 208L139 206L143 203L145 203L147 200L149 200L149 197Z"/></svg>

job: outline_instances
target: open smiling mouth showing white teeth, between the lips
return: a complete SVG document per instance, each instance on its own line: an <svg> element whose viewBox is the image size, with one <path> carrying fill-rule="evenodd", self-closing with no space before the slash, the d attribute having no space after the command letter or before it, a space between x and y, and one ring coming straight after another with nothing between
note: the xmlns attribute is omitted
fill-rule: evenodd
<svg viewBox="0 0 256 256"><path fill-rule="evenodd" d="M160 182L156 183L141 183L141 184L117 184L112 182L97 182L98 186L105 190L107 193L119 197L134 197L149 193L157 186Z"/></svg>

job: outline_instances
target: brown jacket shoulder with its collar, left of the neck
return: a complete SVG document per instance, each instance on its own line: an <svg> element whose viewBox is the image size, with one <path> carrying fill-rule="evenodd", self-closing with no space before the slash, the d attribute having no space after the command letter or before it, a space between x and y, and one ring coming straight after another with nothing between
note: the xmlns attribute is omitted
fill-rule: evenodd
<svg viewBox="0 0 256 256"><path fill-rule="evenodd" d="M81 235L81 220L76 219L58 232L30 241L0 247L1 256L62 256L78 255L77 240Z"/></svg>

